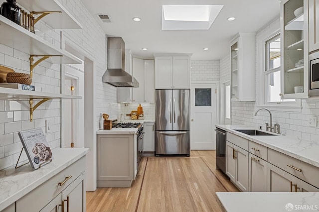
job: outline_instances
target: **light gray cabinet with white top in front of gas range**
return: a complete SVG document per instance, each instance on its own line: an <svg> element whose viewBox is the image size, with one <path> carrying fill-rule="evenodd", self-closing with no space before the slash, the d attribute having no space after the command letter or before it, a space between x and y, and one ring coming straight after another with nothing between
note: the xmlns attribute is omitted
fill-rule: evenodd
<svg viewBox="0 0 319 212"><path fill-rule="evenodd" d="M131 187L138 172L138 128L97 131L97 187Z"/></svg>

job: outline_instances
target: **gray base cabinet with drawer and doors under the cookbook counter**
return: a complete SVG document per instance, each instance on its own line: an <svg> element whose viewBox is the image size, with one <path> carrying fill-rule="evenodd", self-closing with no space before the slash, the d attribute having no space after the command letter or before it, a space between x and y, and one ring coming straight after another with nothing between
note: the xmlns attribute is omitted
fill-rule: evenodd
<svg viewBox="0 0 319 212"><path fill-rule="evenodd" d="M16 212L85 212L85 157L15 202ZM69 208L68 208L69 207ZM62 209L64 208L64 210Z"/></svg>

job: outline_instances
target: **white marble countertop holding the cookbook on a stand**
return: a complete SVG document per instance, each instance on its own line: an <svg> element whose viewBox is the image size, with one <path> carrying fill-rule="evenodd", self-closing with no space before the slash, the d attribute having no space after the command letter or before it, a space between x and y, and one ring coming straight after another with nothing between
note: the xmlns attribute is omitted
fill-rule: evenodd
<svg viewBox="0 0 319 212"><path fill-rule="evenodd" d="M0 211L88 153L88 148L52 150L52 162L33 170L30 164L0 171Z"/></svg>

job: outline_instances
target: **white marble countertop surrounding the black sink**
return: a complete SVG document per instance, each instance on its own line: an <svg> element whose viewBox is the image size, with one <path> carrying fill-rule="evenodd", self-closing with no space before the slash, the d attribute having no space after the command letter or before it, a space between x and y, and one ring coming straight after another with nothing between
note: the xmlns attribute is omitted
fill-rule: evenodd
<svg viewBox="0 0 319 212"><path fill-rule="evenodd" d="M216 124L216 127L252 140L268 148L282 152L306 163L319 167L319 141L303 140L290 135L247 135L234 129L256 129L246 125ZM263 131L263 130L261 130Z"/></svg>

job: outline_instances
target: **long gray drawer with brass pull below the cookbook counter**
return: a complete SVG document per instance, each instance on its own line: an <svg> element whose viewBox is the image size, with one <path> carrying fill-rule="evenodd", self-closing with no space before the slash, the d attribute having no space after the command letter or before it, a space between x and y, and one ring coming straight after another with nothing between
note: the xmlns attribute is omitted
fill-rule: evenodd
<svg viewBox="0 0 319 212"><path fill-rule="evenodd" d="M35 188L27 195L16 201L16 212L38 212L61 193L68 185L70 185L78 176L85 171L85 157L80 158L52 178L47 180L41 186ZM35 170L41 172L41 170ZM66 180L62 186L59 182ZM32 183L32 182L30 182ZM61 200L62 201L62 200Z"/></svg>

